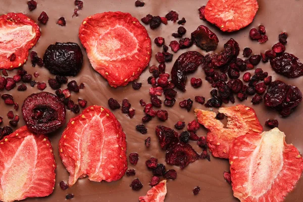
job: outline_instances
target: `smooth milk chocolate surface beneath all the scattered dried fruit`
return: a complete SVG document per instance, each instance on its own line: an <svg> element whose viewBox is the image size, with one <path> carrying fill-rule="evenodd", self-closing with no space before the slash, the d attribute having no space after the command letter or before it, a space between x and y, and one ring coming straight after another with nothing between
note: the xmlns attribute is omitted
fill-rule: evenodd
<svg viewBox="0 0 303 202"><path fill-rule="evenodd" d="M211 24L202 21L199 19L198 8L206 5L207 1L195 1L195 0L166 0L166 1L148 1L145 0L145 6L136 8L134 6L135 0L124 0L124 1L83 1L83 9L80 10L78 17L73 17L73 11L76 8L74 6L74 1L41 1L37 0L37 9L30 12L28 10L27 1L5 1L2 0L0 7L0 14L5 14L9 12L21 12L30 16L33 20L37 22L37 18L42 11L45 11L49 16L49 20L46 25L40 23L41 29L41 38L37 42L36 46L32 48L33 51L38 53L39 57L43 57L44 51L49 44L54 44L58 42L77 42L81 47L81 43L78 39L78 28L84 18L95 13L102 13L106 11L122 11L129 12L134 17L141 19L146 14L151 14L154 16L165 16L169 11L174 10L179 13L179 19L185 17L186 23L184 27L187 29L185 37L190 37L190 33L194 31L199 25L208 26L213 32L215 32L219 38L219 45L215 52L219 52L223 47L223 44L230 38L234 38L240 45L240 55L242 57L242 49L244 47L250 47L254 54L260 54L260 52L265 52L267 49L270 49L271 46L278 42L278 34L282 31L288 33L286 52L292 53L297 56L303 62L303 37L302 37L302 11L303 11L303 2L296 0L275 0L275 1L258 1L259 2L259 11L255 20L246 28L234 32L234 33L223 33L218 28L212 26ZM56 24L57 20L60 17L65 17L66 26L59 26ZM249 30L252 27L258 27L260 24L265 25L266 34L268 35L269 40L260 44L257 41L251 41L249 38ZM153 41L155 37L162 36L166 40L168 45L171 40L175 40L171 36L173 32L177 31L177 23L172 21L168 22L168 25L162 24L158 29L151 30L149 26L146 26L146 29L149 33L151 40ZM149 65L158 65L155 60L155 54L158 51L162 51L161 48L157 47L154 42L152 42L153 47L153 57ZM83 47L82 47L83 48ZM193 45L190 50L198 51L203 55L206 55L204 51L201 51L198 47ZM173 62L167 63L167 72L170 73L172 65L177 57L189 51L189 49L180 50L177 54L174 54ZM177 102L173 108L166 108L165 106L162 109L168 110L169 120L166 122L160 122L157 118L154 118L152 121L146 124L148 128L147 134L142 135L139 132L135 131L135 125L141 123L141 118L144 116L142 112L143 108L139 105L139 100L143 98L145 102L149 102L149 87L147 84L147 78L150 76L148 68L142 73L142 75L137 79L138 82L142 82L143 85L140 90L134 90L129 84L126 87L112 88L108 85L107 81L96 73L89 64L89 61L86 56L86 52L82 49L84 55L83 67L80 73L75 78L69 78L70 80L76 80L78 83L84 82L85 88L80 90L79 93L72 93L71 98L74 102L77 102L78 97L84 98L88 101L89 105L100 105L108 107L108 99L110 97L116 98L119 103L122 102L123 98L128 98L132 108L136 110L136 114L133 119L130 119L125 114L121 113L121 110L116 110L113 113L117 119L121 122L121 125L124 129L124 132L127 136L127 154L132 152L137 152L139 154L139 161L136 166L129 164L129 169L135 169L135 176L124 176L121 180L116 182L90 182L88 179L79 179L78 182L71 188L67 190L62 190L59 186L59 182L62 180L68 180L68 172L65 170L61 160L59 158L58 151L58 142L62 131L65 127L62 127L56 133L49 134L51 138L54 152L56 156L57 170L56 170L56 186L53 194L45 198L30 198L26 201L64 201L65 195L68 193L75 194L73 201L138 201L138 196L145 195L146 191L150 188L148 185L149 179L151 178L151 172L148 171L145 167L145 160L150 157L156 157L159 159L159 163L165 163L165 151L160 149L158 140L155 135L155 127L159 124L173 127L173 125L179 121L184 120L186 124L189 121L192 121L195 117L193 114L194 108L205 109L204 106L194 102L193 108L190 112L187 112L184 109L180 109L178 103L187 98L194 99L195 95L203 95L207 99L210 98L210 90L212 89L210 84L205 81L205 75L201 67L191 75L188 75L188 81L186 84L186 92L177 93ZM295 79L287 79L281 75L275 74L271 70L270 64L263 64L262 62L257 66L262 68L264 71L268 71L269 75L273 76L273 80L280 79L288 84L296 85L303 90L302 77ZM30 61L24 65L24 69L29 73L33 74L34 72L39 73L39 77L36 78L36 81L44 81L47 83L48 78L54 78L54 75L51 75L45 68L35 68L31 67ZM16 70L9 72L10 76L16 74ZM242 76L243 73L241 73ZM199 77L203 79L202 87L194 89L191 87L189 80L191 77ZM240 77L242 78L242 77ZM48 85L48 84L47 84ZM20 108L22 106L23 100L31 93L38 92L39 90L35 87L30 87L27 84L28 89L24 92L18 92L17 88L9 91L14 95L15 101L18 102ZM62 89L65 89L66 86L63 85ZM45 91L54 92L50 87L47 87ZM7 93L6 91L2 91ZM252 96L249 96L245 102L247 106L251 106L250 100ZM162 97L162 100L164 98ZM236 99L236 104L238 104ZM227 106L227 105L223 105ZM303 153L303 135L301 125L303 121L303 104L300 104L296 111L292 113L287 118L281 118L277 112L272 111L264 107L263 103L257 106L254 106L254 109L257 112L260 122L264 125L267 119L277 119L279 121L279 129L286 134L287 143L294 144L301 153ZM4 117L4 123L2 126L8 124L9 120L6 116L9 110L13 110L12 107L6 106L3 100L0 101L0 116ZM14 111L14 110L13 110ZM16 114L16 112L14 111ZM20 116L21 121L18 124L18 127L24 124L22 120L21 110L17 112ZM70 118L74 117L70 111L67 111L67 122ZM264 126L265 130L269 130L268 127ZM181 131L179 131L181 132ZM206 135L206 130L201 127L197 131L197 134ZM151 137L151 145L149 148L146 148L144 145L144 139L146 137ZM198 153L201 153L201 149L191 142ZM232 202L238 201L232 195L231 185L228 184L223 178L223 172L229 170L229 165L227 160L216 159L211 156L211 162L207 160L199 160L184 170L180 170L178 167L168 166L167 169L175 169L178 173L176 180L168 180L167 189L168 193L166 195L167 202L170 201L213 201L213 202ZM133 191L129 187L129 184L134 178L139 178L143 183L143 188L139 191ZM192 189L195 186L200 186L201 191L198 195L194 196ZM303 178L300 179L295 189L286 197L285 201L302 201L303 200Z"/></svg>

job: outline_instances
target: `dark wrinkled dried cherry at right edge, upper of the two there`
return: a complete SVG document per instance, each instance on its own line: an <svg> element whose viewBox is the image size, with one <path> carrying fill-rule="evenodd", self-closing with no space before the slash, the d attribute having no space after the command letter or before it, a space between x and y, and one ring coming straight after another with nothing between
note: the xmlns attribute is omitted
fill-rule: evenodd
<svg viewBox="0 0 303 202"><path fill-rule="evenodd" d="M288 78L299 77L303 74L303 64L292 54L283 53L280 57L272 58L270 65L275 72Z"/></svg>

